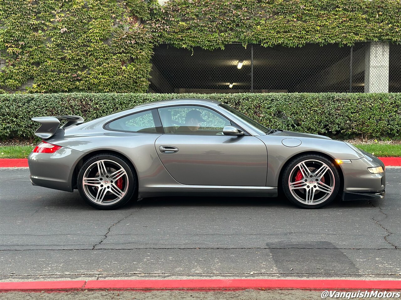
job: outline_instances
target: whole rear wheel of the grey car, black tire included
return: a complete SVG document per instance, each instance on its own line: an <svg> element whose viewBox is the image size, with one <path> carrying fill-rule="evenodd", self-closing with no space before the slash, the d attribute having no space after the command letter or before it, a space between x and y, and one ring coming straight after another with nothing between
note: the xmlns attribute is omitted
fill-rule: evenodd
<svg viewBox="0 0 401 300"><path fill-rule="evenodd" d="M78 190L87 204L114 209L137 194L136 174L126 160L112 154L98 154L83 164Z"/></svg>

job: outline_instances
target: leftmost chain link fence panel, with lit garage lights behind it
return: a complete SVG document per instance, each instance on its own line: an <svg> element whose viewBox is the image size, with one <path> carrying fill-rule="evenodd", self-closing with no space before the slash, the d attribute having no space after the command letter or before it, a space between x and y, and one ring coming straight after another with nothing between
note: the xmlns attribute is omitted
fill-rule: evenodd
<svg viewBox="0 0 401 300"><path fill-rule="evenodd" d="M250 56L250 48L245 49L241 44L213 51L195 47L193 53L188 49L160 45L154 49L150 90L176 93L249 92Z"/></svg>

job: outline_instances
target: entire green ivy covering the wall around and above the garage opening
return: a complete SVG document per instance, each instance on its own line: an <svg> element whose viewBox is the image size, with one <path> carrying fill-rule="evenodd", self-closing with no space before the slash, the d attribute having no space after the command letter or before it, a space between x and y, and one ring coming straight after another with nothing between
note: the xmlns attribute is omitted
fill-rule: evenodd
<svg viewBox="0 0 401 300"><path fill-rule="evenodd" d="M155 44L400 42L400 28L399 0L0 0L0 91L145 92Z"/></svg>

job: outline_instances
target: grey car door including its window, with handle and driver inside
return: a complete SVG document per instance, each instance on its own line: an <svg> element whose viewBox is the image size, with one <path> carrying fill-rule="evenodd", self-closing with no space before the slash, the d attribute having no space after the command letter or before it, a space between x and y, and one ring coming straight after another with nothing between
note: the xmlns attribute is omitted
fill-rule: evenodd
<svg viewBox="0 0 401 300"><path fill-rule="evenodd" d="M170 175L181 184L205 186L265 186L265 144L245 134L225 136L235 125L203 106L159 108L164 134L156 152ZM200 120L196 120L199 118Z"/></svg>

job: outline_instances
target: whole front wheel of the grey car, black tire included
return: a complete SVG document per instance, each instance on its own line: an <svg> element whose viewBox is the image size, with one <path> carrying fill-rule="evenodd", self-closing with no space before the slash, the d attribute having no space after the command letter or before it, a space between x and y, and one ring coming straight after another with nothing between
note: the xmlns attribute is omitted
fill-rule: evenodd
<svg viewBox="0 0 401 300"><path fill-rule="evenodd" d="M302 162L304 164L300 166ZM326 171L324 171L325 169ZM320 174L315 174L318 170L324 172L320 179ZM294 184L295 182L299 183ZM291 188L290 183L292 184ZM298 156L291 160L284 169L282 190L288 200L299 207L321 208L326 206L336 198L339 189L340 175L338 170L332 161L324 156L317 154ZM302 196L305 198L303 199ZM315 198L316 204L314 204ZM301 201L302 199L305 201Z"/></svg>

